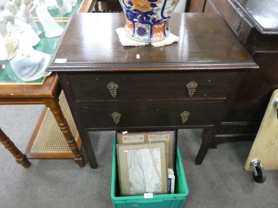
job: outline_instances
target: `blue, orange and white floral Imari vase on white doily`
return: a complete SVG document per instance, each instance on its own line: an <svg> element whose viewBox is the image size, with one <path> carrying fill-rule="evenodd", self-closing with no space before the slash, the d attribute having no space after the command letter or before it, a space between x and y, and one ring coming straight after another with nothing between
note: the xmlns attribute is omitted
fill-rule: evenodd
<svg viewBox="0 0 278 208"><path fill-rule="evenodd" d="M168 20L179 0L119 0L126 17L125 33L138 41L154 42L170 33Z"/></svg>

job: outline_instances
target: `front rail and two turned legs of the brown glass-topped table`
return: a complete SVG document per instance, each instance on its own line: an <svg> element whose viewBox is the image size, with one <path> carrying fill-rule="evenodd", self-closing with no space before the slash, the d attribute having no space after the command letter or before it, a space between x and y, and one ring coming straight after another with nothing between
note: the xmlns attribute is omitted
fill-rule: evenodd
<svg viewBox="0 0 278 208"><path fill-rule="evenodd" d="M0 104L45 104L53 113L53 116L63 133L67 144L69 145L74 161L79 167L84 167L85 162L77 142L70 131L67 120L59 104L59 95L61 93L61 85L56 73L46 77L41 84L6 84L0 88ZM8 149L15 160L23 165L24 168L30 166L25 154L19 151L14 143L0 131L0 141Z"/></svg>

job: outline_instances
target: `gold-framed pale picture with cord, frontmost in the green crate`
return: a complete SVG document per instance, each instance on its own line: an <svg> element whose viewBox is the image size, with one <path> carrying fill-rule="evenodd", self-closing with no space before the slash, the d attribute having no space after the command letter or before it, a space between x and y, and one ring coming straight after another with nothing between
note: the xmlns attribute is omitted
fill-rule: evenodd
<svg viewBox="0 0 278 208"><path fill-rule="evenodd" d="M121 196L168 193L166 141L117 144Z"/></svg>

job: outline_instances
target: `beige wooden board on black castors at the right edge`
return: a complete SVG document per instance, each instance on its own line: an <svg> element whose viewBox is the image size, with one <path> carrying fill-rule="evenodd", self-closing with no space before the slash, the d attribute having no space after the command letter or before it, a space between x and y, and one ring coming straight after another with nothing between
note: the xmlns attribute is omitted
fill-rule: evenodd
<svg viewBox="0 0 278 208"><path fill-rule="evenodd" d="M247 171L251 170L249 163L254 159L261 160L261 165L265 170L278 169L278 119L277 111L273 107L273 102L277 98L278 89L271 96L258 134L249 153L245 164Z"/></svg>

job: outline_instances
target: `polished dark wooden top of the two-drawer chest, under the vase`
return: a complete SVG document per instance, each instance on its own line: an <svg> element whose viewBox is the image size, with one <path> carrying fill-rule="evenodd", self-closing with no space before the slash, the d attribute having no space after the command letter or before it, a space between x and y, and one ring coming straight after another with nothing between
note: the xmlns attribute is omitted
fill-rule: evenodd
<svg viewBox="0 0 278 208"><path fill-rule="evenodd" d="M257 67L218 14L174 13L169 26L180 40L163 47L122 46L115 29L124 25L123 13L74 14L48 71L162 70L173 65L177 70ZM56 59L67 61L54 63Z"/></svg>

